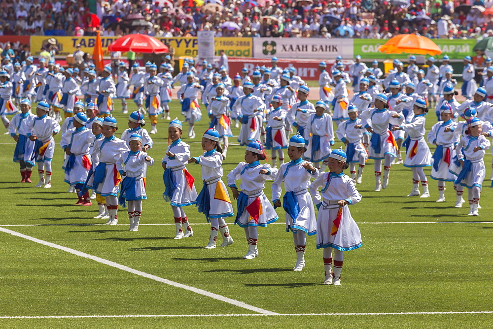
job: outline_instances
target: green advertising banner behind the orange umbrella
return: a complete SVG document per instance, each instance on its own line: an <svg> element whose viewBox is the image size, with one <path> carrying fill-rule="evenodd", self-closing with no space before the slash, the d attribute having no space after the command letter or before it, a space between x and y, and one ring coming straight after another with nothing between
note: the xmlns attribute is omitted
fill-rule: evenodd
<svg viewBox="0 0 493 329"><path fill-rule="evenodd" d="M354 41L354 56L360 55L362 59L393 59L393 58L405 58L407 54L383 54L378 50L378 47L383 45L388 40L375 40L375 39L353 39ZM450 59L463 59L465 56L472 56L472 49L476 45L476 39L433 39L433 41L442 50L443 56L449 55Z"/></svg>

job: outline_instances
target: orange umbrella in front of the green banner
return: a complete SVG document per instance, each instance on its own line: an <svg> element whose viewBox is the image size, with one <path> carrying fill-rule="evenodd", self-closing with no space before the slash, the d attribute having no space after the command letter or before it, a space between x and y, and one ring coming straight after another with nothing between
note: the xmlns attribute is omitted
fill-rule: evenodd
<svg viewBox="0 0 493 329"><path fill-rule="evenodd" d="M442 53L440 48L422 35L399 34L390 38L384 45L378 48L385 54L419 54L419 55L439 55Z"/></svg>

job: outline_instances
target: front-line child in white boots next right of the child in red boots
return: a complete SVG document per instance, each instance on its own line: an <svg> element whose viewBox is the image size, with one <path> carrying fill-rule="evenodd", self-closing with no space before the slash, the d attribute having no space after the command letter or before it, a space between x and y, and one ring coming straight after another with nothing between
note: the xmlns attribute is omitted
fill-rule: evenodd
<svg viewBox="0 0 493 329"><path fill-rule="evenodd" d="M120 158L123 152L129 150L124 140L116 138L115 132L117 130L118 125L115 118L109 116L103 120L102 133L104 138L94 142L91 154L94 175L89 178L87 184L96 191L96 194L105 197L109 212L109 219L106 224L110 225L118 224L117 196L121 175L116 169L116 160ZM80 193L85 193L84 189Z"/></svg>

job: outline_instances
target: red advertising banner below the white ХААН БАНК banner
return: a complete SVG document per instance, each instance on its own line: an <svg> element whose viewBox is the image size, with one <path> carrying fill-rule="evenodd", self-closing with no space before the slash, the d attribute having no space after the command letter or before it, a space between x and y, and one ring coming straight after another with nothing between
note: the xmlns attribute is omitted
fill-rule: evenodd
<svg viewBox="0 0 493 329"><path fill-rule="evenodd" d="M327 63L327 69L330 70L334 61L325 61ZM343 61L348 66L352 64L352 61ZM299 60L299 59L279 59L278 66L281 68L287 68L289 66L294 66L296 68L296 75L299 75L303 80L318 80L320 72L318 71L318 64L320 60ZM228 59L229 65L229 75L233 77L235 74L241 73L242 69L246 67L248 69L248 74L251 75L255 66L266 66L271 67L272 63L270 59L256 59L256 58L245 58L236 57Z"/></svg>

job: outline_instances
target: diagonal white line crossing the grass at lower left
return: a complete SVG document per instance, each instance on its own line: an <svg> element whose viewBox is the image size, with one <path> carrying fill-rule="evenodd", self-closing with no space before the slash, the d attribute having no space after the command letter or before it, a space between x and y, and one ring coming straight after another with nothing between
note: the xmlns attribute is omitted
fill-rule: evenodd
<svg viewBox="0 0 493 329"><path fill-rule="evenodd" d="M76 255L76 256L88 258L88 259L93 260L93 261L96 261L98 263L102 263L102 264L105 264L105 265L108 265L108 266L112 266L112 267L121 269L123 271L127 271L127 272L130 272L130 273L133 273L133 274L140 275L140 276L142 276L144 278L148 278L148 279L151 279L151 280L162 282L162 283L165 283L167 285L170 285L170 286L173 286L173 287L176 287L176 288L185 289L185 290L191 291L193 293L197 293L197 294L208 296L208 297L211 297L211 298L220 300L220 301L224 301L224 302L229 303L231 305L242 307L242 308L245 308L245 309L250 310L250 311L253 311L253 312L258 312L258 313L265 314L265 315L276 315L276 314L278 314L278 313L275 313L275 312L264 310L264 309L259 308L259 307L256 307L256 306L252 306L252 305L246 304L246 303L244 303L242 301L239 301L239 300L236 300L236 299L232 299L232 298L228 298L228 297L225 297L225 296L217 295L217 294L208 292L206 290L202 290L202 289L199 289L199 288L195 288L195 287L187 286L187 285L184 285L184 284L181 284L181 283L178 283L178 282L174 282L174 281L171 281L171 280L168 280L168 279L164 279L164 278L161 278L161 277L156 276L156 275L152 275L152 274L149 274L149 273L146 273L146 272L142 272L142 271L139 271L137 269L134 269L134 268L131 268L131 267L128 267L128 266L119 264L119 263L111 262L111 261L108 261L108 260L103 259L103 258L100 258L100 257L92 256L92 255L89 255L89 254L80 252L78 250L75 250L75 249L67 248L67 247L64 247L64 246L61 246L61 245L58 245L58 244L55 244L55 243L51 243L51 242L48 242L48 241L40 240L40 239L37 239L35 237L29 236L29 235L25 235L25 234L22 234L22 233L13 231L13 230L8 230L8 229L0 228L0 231L1 232L4 232L4 233L12 234L14 236L18 236L18 237L21 237L21 238L24 238L24 239L27 239L27 240L30 240L30 241L33 241L33 242L36 242L36 243L39 243L39 244L48 246L48 247L59 249L59 250L68 252L70 254Z"/></svg>

